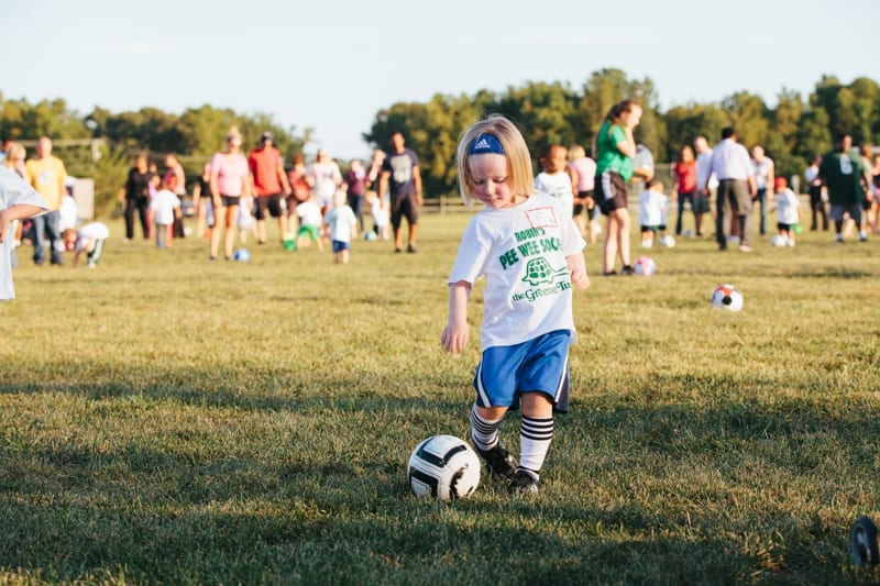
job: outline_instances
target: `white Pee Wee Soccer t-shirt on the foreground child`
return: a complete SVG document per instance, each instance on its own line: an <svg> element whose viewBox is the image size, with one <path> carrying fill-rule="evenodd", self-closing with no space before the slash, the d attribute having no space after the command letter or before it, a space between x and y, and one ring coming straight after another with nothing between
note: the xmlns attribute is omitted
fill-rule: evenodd
<svg viewBox="0 0 880 586"><path fill-rule="evenodd" d="M574 342L571 274L565 257L586 245L571 213L536 194L513 208L485 207L468 224L449 283L485 277L481 344L508 346L554 330Z"/></svg>

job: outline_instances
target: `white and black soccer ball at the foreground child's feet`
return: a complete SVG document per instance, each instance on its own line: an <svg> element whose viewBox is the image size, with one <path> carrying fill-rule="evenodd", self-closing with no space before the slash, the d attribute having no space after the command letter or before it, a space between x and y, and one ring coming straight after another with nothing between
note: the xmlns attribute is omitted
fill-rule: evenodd
<svg viewBox="0 0 880 586"><path fill-rule="evenodd" d="M420 497L468 498L480 485L480 457L464 440L432 435L413 451L406 478Z"/></svg>

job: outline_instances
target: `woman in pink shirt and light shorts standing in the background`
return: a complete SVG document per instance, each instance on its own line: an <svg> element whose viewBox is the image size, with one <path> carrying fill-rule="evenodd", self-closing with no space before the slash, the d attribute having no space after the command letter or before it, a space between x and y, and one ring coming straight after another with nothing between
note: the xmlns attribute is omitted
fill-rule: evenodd
<svg viewBox="0 0 880 586"><path fill-rule="evenodd" d="M211 198L213 200L213 230L211 231L211 261L217 258L220 247L220 228L224 228L223 255L232 258L235 241L235 220L239 201L251 195L248 176L248 159L241 153L241 134L234 126L227 136L226 153L211 157Z"/></svg>

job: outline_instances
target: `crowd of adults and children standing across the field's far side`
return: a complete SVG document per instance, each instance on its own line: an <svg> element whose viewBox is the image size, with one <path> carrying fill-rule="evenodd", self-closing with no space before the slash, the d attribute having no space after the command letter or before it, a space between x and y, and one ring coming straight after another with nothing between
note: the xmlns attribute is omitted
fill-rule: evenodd
<svg viewBox="0 0 880 586"><path fill-rule="evenodd" d="M759 236L772 233L777 236L772 244L793 246L807 214L810 230L833 226L838 242L854 233L860 241L880 233L880 155L869 144L854 151L851 136L846 135L832 152L816 155L803 174L809 206L801 210L796 197L782 197L791 188L777 176L763 145L747 150L733 128L724 129L714 146L705 136L682 145L666 181L671 188L664 192L652 154L635 140L640 117L639 104L624 100L602 122L593 148L547 144L539 153L534 188L563 202L588 244L595 244L604 232L603 275L618 274L618 262L619 274L632 274L630 194L638 199L644 247L674 243L667 234L670 208L676 212L674 228L670 226L675 237L711 235L722 251L734 245L751 252L752 232ZM277 222L282 245L290 251L327 245L332 246L338 262L348 262L352 239L363 234L366 240L391 240L398 253L415 253L424 204L419 157L406 146L402 132L393 133L389 147L388 152L376 148L366 163L352 161L344 172L323 148L311 164L297 154L287 167L272 133L264 132L260 143L245 152L241 133L232 128L224 148L205 164L193 186L195 235L208 240L210 259L221 253L231 259L237 243L244 244L249 235L261 245L267 242L271 218ZM76 228L77 218L67 172L52 154L52 140L41 137L30 158L21 144L4 140L0 161L48 207L47 213L15 222L13 242L31 243L37 265L46 261L62 264L62 253L72 246L64 232ZM119 199L127 240L135 237L140 225L144 239L169 248L175 239L191 233L184 226L187 183L174 153L161 162L162 172L146 154L135 156ZM339 211L340 202L344 211ZM772 211L778 215L776 231L770 228ZM689 212L693 230L685 229ZM367 213L370 228L364 221ZM348 222L350 217L354 218L350 229L338 225L340 218ZM12 257L16 262L14 246Z"/></svg>

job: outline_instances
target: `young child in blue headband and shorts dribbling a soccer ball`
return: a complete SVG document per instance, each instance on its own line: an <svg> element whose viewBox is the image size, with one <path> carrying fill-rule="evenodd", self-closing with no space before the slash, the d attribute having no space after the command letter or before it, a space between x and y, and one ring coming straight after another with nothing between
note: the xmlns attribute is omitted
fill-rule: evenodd
<svg viewBox="0 0 880 586"><path fill-rule="evenodd" d="M536 493L553 438L553 410L568 410L572 285L590 286L585 242L562 202L534 194L526 142L507 119L492 115L471 126L457 158L462 199L485 208L462 236L440 342L450 353L465 347L468 298L484 276L471 439L490 471L509 479L512 493ZM502 446L498 428L520 403L517 463Z"/></svg>

